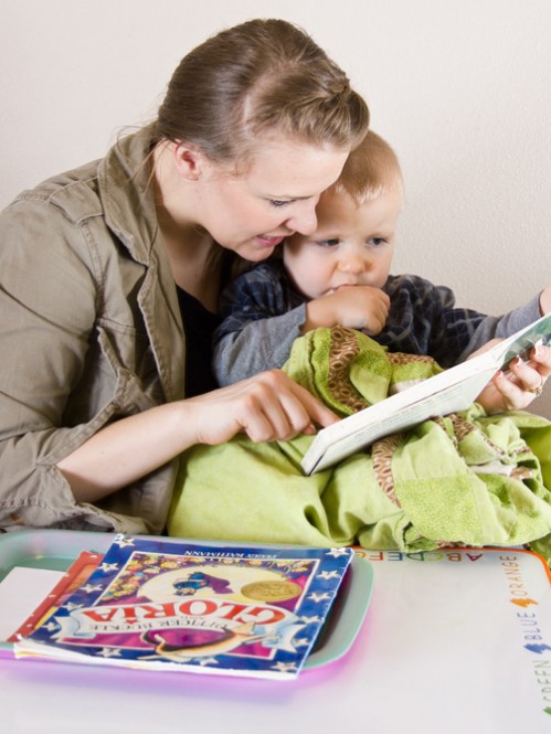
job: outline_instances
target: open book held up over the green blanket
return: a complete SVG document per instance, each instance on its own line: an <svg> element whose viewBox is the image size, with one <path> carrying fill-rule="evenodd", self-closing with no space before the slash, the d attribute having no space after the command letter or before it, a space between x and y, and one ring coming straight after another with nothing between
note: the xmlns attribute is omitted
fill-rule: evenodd
<svg viewBox="0 0 551 734"><path fill-rule="evenodd" d="M326 469L383 436L433 416L465 411L498 370L550 338L551 313L488 351L324 428L303 458L304 472Z"/></svg>

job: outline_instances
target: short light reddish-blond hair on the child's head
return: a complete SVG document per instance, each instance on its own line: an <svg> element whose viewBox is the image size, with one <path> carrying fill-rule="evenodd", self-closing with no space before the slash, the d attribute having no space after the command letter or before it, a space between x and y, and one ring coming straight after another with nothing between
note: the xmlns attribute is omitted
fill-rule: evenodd
<svg viewBox="0 0 551 734"><path fill-rule="evenodd" d="M331 189L336 193L347 193L361 205L396 185L403 185L398 156L386 140L369 130L348 157Z"/></svg>

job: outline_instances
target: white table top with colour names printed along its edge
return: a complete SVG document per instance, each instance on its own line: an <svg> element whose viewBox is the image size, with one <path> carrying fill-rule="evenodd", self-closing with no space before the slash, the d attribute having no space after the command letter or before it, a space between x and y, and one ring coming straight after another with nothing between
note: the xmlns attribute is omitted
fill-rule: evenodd
<svg viewBox="0 0 551 734"><path fill-rule="evenodd" d="M538 556L365 553L371 605L336 662L274 682L3 658L1 732L551 732L551 585Z"/></svg>

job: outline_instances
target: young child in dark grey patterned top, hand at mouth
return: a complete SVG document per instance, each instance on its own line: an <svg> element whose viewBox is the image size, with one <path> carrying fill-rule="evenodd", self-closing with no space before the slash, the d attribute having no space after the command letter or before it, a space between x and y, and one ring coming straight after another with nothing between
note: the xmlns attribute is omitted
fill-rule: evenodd
<svg viewBox="0 0 551 734"><path fill-rule="evenodd" d="M389 275L402 203L399 160L370 131L339 181L321 194L316 232L287 238L283 258L244 273L222 294L223 321L214 334L220 384L283 366L295 339L318 327L362 329L391 352L430 355L448 368L551 310L551 286L492 317L456 308L445 286ZM523 364L511 369L539 391L543 374L529 374ZM509 389L501 375L496 384Z"/></svg>

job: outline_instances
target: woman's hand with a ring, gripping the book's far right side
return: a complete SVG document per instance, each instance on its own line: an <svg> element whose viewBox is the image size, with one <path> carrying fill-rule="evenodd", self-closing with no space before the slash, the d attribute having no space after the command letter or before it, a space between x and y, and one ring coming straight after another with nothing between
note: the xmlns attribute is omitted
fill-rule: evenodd
<svg viewBox="0 0 551 734"><path fill-rule="evenodd" d="M515 359L506 372L498 372L477 402L487 413L521 411L541 395L551 374L551 348L534 347L527 362Z"/></svg>

